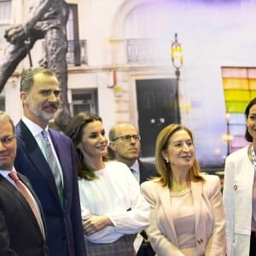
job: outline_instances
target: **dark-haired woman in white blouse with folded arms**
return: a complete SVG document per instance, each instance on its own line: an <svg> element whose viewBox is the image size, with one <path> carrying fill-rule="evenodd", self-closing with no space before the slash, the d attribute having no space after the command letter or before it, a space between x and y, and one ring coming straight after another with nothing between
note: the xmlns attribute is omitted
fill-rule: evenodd
<svg viewBox="0 0 256 256"><path fill-rule="evenodd" d="M102 119L78 113L66 134L76 148L87 255L136 255L133 241L149 224L149 206L125 164L106 161Z"/></svg>

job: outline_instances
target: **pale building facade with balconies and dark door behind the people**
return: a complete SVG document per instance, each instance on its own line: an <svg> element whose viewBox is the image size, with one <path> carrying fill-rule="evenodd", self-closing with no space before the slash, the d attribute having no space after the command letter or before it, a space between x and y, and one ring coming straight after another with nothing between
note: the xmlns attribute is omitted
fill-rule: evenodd
<svg viewBox="0 0 256 256"><path fill-rule="evenodd" d="M5 44L4 28L22 24L33 1L36 0L0 0L0 56ZM133 123L142 136L145 158L154 157L155 138L160 129L180 119L195 134L200 163L222 165L227 154L223 139L227 110L222 67L256 67L256 3L66 2L70 6L67 96L71 113L88 110L99 114L107 132L116 123ZM179 81L171 60L175 33L183 47ZM38 66L44 55L44 40L35 44L31 55L33 66ZM26 67L27 57L0 95L1 108L15 122L22 114L19 82ZM241 140L240 146L243 145Z"/></svg>

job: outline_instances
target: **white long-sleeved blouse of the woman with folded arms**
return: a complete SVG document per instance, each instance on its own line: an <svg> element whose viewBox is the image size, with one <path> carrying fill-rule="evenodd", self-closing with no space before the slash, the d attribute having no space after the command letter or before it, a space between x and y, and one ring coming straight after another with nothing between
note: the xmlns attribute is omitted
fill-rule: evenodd
<svg viewBox="0 0 256 256"><path fill-rule="evenodd" d="M140 186L123 163L105 162L92 181L79 179L82 218L87 215L108 216L113 222L91 236L89 241L109 243L124 234L135 234L149 224L150 207L140 192Z"/></svg>

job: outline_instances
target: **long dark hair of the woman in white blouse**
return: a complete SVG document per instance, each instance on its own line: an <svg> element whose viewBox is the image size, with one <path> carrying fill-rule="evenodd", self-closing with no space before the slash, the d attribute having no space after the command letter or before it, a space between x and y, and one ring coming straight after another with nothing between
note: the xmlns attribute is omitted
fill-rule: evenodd
<svg viewBox="0 0 256 256"><path fill-rule="evenodd" d="M102 122L102 119L95 113L80 112L69 121L65 131L66 135L73 140L74 148L76 149L78 175L85 180L93 180L97 176L95 170L86 165L84 156L77 146L82 141L84 127L95 121ZM103 160L108 160L108 157L103 157Z"/></svg>

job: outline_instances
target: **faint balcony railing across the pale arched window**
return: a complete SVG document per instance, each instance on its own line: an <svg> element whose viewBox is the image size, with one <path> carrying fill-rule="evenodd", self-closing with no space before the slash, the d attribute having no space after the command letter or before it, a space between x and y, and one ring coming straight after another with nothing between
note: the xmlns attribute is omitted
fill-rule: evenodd
<svg viewBox="0 0 256 256"><path fill-rule="evenodd" d="M127 39L127 62L129 64L170 62L171 45L171 40L160 38Z"/></svg>

